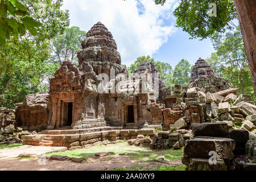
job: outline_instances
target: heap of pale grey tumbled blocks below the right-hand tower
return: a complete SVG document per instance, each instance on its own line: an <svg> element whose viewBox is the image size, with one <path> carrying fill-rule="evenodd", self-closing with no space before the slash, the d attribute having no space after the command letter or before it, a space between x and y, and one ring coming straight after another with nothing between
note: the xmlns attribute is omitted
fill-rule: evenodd
<svg viewBox="0 0 256 182"><path fill-rule="evenodd" d="M204 92L199 88L187 90L185 102L190 119L188 115L178 119L170 125L171 130L189 129L191 123L225 122L229 129L247 130L250 139L256 139L256 106L250 95L237 96L238 89Z"/></svg>

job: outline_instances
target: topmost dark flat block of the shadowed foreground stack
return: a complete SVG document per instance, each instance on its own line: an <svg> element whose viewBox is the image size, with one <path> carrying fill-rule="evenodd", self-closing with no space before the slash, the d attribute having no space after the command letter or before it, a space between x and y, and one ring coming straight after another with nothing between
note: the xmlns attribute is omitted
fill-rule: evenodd
<svg viewBox="0 0 256 182"><path fill-rule="evenodd" d="M192 133L195 137L228 137L226 123L192 123Z"/></svg>

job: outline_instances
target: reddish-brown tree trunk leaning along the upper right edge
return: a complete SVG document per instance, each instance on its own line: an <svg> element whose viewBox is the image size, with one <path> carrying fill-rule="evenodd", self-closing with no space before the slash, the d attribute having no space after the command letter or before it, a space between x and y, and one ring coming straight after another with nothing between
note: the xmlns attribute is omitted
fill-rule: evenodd
<svg viewBox="0 0 256 182"><path fill-rule="evenodd" d="M256 1L234 0L256 95Z"/></svg>

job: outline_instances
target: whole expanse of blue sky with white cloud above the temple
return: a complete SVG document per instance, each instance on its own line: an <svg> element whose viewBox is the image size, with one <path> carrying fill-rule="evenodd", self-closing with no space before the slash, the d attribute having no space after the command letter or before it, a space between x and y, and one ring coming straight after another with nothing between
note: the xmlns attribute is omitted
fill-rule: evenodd
<svg viewBox="0 0 256 182"><path fill-rule="evenodd" d="M64 0L71 26L88 31L98 21L112 32L122 64L129 67L139 56L170 63L174 68L181 59L191 64L214 52L207 39L189 39L187 32L175 27L172 14L178 0L167 0L164 6L154 0Z"/></svg>

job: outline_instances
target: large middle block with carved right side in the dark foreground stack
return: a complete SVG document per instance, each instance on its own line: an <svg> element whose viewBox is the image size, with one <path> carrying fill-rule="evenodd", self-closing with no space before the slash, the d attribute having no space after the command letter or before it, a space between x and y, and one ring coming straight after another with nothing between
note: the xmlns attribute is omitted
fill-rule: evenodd
<svg viewBox="0 0 256 182"><path fill-rule="evenodd" d="M199 147L200 146L200 147ZM185 158L209 159L211 151L216 152L218 159L232 160L236 142L230 138L197 137L187 140L184 147Z"/></svg>

